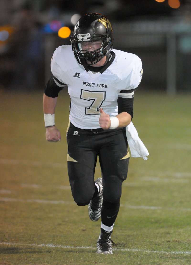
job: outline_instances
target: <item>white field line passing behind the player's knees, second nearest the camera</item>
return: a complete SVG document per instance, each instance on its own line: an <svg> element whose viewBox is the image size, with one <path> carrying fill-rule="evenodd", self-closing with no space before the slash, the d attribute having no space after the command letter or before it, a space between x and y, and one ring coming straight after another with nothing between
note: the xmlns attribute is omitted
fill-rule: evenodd
<svg viewBox="0 0 191 265"><path fill-rule="evenodd" d="M73 204L75 202L70 201L53 201L53 200L41 200L41 199L19 199L19 198L3 198L0 197L0 201L4 202L29 202L29 203L42 203L42 204ZM129 209L143 209L143 210L167 210L167 211L191 211L191 208L168 208L162 206L146 206L146 205L126 205L120 204L120 207L126 207Z"/></svg>

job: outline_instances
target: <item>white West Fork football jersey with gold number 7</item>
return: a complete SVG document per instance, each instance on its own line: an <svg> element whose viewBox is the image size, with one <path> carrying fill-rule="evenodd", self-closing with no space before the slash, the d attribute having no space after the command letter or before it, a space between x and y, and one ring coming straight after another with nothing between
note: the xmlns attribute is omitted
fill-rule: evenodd
<svg viewBox="0 0 191 265"><path fill-rule="evenodd" d="M111 64L109 65L109 61ZM135 54L112 50L104 72L92 73L78 64L71 45L59 46L51 60L51 71L56 84L68 86L71 99L69 119L81 129L96 129L99 126L100 107L111 117L118 114L118 97L133 97L142 78L141 59ZM94 65L92 65L94 66Z"/></svg>

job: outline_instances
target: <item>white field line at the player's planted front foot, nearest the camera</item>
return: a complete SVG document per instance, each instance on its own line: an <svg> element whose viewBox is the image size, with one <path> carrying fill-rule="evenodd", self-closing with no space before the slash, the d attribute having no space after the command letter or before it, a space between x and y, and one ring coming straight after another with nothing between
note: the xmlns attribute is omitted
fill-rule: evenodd
<svg viewBox="0 0 191 265"><path fill-rule="evenodd" d="M63 249L96 249L90 246L63 246L63 245L54 245L54 244L24 244L24 243L12 243L12 242L0 242L0 245L6 246L21 246L21 247L34 247L34 248L63 248ZM128 251L128 252L143 252L143 253L158 253L158 254L187 254L190 255L191 251L160 251L160 250L144 250L144 249L122 249L122 248L113 248L116 251Z"/></svg>

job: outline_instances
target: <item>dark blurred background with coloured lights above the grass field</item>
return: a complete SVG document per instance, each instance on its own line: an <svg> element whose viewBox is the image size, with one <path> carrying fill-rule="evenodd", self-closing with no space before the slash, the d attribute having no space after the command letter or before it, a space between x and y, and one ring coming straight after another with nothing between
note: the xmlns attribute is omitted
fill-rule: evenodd
<svg viewBox="0 0 191 265"><path fill-rule="evenodd" d="M190 92L190 0L0 0L0 89L43 90L55 48L90 12L111 21L115 49L141 58L144 89Z"/></svg>

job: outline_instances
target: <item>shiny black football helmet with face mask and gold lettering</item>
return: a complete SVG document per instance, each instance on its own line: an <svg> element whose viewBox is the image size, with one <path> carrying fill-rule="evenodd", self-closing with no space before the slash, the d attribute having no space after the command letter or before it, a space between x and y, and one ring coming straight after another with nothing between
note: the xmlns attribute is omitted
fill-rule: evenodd
<svg viewBox="0 0 191 265"><path fill-rule="evenodd" d="M104 15L91 13L82 16L75 24L72 34L72 50L78 63L84 66L97 63L113 48L113 28ZM94 51L82 50L82 42L99 40L102 41L101 48Z"/></svg>

